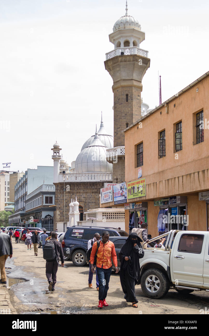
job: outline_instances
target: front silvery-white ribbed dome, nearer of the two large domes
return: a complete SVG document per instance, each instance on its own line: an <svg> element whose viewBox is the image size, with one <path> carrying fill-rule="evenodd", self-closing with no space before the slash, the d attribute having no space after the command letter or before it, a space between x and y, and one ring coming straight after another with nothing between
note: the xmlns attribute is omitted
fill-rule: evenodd
<svg viewBox="0 0 209 336"><path fill-rule="evenodd" d="M104 146L96 133L91 144L77 156L75 173L112 173L113 165L107 162L106 149L107 146Z"/></svg>

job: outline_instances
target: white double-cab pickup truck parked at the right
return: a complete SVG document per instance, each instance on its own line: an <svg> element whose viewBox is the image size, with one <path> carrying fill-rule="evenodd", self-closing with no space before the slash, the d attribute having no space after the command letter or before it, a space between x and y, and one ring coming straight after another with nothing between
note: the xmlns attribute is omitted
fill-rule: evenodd
<svg viewBox="0 0 209 336"><path fill-rule="evenodd" d="M140 259L143 293L159 299L170 287L182 294L209 292L209 232L171 230L150 242L165 236L165 250L144 249Z"/></svg>

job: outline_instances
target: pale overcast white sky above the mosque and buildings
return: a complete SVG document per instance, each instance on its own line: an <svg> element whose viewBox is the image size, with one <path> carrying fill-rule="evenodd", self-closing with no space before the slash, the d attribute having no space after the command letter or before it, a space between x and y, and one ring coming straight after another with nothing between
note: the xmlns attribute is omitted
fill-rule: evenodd
<svg viewBox="0 0 209 336"><path fill-rule="evenodd" d="M128 0L145 32L150 68L143 101L159 105L209 70L209 2ZM104 67L108 35L125 0L1 0L1 162L10 170L52 166L56 141L70 164L103 122L113 135L112 79Z"/></svg>

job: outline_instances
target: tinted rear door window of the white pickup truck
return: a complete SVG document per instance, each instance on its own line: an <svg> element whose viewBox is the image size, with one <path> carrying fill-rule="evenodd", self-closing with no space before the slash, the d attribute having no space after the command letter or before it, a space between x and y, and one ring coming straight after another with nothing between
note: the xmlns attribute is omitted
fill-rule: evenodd
<svg viewBox="0 0 209 336"><path fill-rule="evenodd" d="M203 239L204 235L182 235L178 245L178 251L200 254L202 251Z"/></svg>

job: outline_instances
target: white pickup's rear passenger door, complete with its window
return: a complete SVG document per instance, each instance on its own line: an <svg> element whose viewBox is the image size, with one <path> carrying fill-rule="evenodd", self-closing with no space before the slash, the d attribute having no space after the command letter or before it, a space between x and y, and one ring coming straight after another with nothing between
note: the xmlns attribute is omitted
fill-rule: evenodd
<svg viewBox="0 0 209 336"><path fill-rule="evenodd" d="M180 239L179 239L180 236ZM178 284L203 284L203 258L207 235L178 233L171 249L172 276Z"/></svg>

